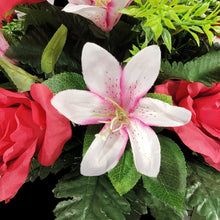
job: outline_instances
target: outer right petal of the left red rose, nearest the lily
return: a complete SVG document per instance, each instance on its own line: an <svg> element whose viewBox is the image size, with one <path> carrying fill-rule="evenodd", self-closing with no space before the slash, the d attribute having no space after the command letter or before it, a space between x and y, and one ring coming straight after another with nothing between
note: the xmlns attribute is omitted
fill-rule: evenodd
<svg viewBox="0 0 220 220"><path fill-rule="evenodd" d="M46 131L38 159L44 166L52 165L62 152L64 144L72 136L70 122L52 105L53 93L43 84L33 84L31 95L46 114Z"/></svg>

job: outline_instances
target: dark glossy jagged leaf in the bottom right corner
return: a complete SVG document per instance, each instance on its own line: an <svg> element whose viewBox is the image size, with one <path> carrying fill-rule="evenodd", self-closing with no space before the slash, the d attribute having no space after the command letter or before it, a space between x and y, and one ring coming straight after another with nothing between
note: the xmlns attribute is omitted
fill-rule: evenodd
<svg viewBox="0 0 220 220"><path fill-rule="evenodd" d="M187 163L188 178L185 204L188 209L197 207L199 215L206 220L217 220L220 216L220 173L202 162Z"/></svg>

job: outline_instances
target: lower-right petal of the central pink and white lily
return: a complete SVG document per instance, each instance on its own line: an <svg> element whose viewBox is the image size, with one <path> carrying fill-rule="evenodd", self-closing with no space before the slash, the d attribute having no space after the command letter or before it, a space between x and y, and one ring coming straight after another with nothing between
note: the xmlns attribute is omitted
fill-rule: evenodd
<svg viewBox="0 0 220 220"><path fill-rule="evenodd" d="M134 163L138 172L157 177L160 170L160 143L155 132L138 120L130 120L127 127Z"/></svg>

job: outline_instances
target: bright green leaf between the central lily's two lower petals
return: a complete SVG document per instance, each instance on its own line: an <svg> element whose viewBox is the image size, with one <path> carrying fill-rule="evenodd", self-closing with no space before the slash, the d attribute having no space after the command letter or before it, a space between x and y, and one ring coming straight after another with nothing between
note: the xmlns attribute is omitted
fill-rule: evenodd
<svg viewBox="0 0 220 220"><path fill-rule="evenodd" d="M117 166L108 173L112 185L120 195L131 190L141 177L136 170L131 147L127 145L127 148Z"/></svg>

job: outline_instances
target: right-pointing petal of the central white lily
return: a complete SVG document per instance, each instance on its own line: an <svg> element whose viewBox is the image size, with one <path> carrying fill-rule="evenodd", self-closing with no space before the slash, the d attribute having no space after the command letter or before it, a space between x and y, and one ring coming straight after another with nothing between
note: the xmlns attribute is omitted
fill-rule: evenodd
<svg viewBox="0 0 220 220"><path fill-rule="evenodd" d="M138 118L147 125L176 127L188 123L191 112L158 99L142 98L130 116Z"/></svg>

